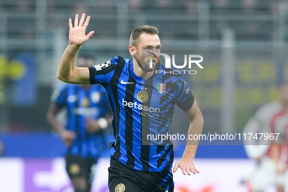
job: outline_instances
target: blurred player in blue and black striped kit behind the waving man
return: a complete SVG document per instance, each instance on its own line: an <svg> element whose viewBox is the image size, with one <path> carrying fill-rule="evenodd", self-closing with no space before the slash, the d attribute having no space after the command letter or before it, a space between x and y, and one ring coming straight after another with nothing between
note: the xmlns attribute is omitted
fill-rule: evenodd
<svg viewBox="0 0 288 192"><path fill-rule="evenodd" d="M93 64L90 56L77 58L78 67ZM67 109L65 127L57 117L63 108ZM104 130L112 120L111 115L107 93L100 85L65 84L51 97L47 118L68 148L66 170L75 192L91 190L97 159L106 145L108 149Z"/></svg>

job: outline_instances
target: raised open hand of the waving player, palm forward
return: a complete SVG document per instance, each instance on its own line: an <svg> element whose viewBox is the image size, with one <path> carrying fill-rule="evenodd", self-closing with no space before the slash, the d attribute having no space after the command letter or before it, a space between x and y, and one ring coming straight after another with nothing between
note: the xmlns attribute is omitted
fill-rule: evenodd
<svg viewBox="0 0 288 192"><path fill-rule="evenodd" d="M85 20L85 13L83 13L79 23L78 23L78 17L79 17L79 15L76 14L74 27L72 25L72 19L69 18L69 43L72 45L80 46L83 43L87 42L89 40L89 38L92 37L92 35L94 34L94 31L90 31L86 35L86 28L88 26L90 16L87 16L87 18ZM85 20L85 22L84 22L84 20Z"/></svg>

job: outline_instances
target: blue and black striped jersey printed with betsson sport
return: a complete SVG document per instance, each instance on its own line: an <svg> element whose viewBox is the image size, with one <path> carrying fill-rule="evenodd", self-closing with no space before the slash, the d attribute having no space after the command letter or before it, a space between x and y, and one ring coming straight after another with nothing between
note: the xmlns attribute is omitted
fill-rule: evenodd
<svg viewBox="0 0 288 192"><path fill-rule="evenodd" d="M166 134L175 104L183 111L192 107L194 96L180 75L162 64L147 80L137 77L133 60L115 57L89 68L90 83L100 83L108 92L114 119L112 158L140 171L161 172L173 164L173 143L148 139Z"/></svg>

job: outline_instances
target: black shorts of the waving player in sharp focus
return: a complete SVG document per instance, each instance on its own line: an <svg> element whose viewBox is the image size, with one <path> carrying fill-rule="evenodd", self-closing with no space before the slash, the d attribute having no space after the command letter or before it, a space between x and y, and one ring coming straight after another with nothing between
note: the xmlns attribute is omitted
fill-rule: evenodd
<svg viewBox="0 0 288 192"><path fill-rule="evenodd" d="M173 192L171 171L143 172L128 168L111 157L109 171L110 192Z"/></svg>

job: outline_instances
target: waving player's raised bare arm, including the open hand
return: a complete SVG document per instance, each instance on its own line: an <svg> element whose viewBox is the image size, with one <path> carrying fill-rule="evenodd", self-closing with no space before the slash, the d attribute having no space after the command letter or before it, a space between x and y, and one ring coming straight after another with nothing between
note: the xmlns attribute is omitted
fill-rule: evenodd
<svg viewBox="0 0 288 192"><path fill-rule="evenodd" d="M72 19L69 19L69 45L61 58L57 77L64 82L73 84L90 84L89 69L86 67L76 67L76 56L80 46L92 37L94 31L86 35L90 16L85 20L85 13L78 21L78 14L75 16L74 27Z"/></svg>

